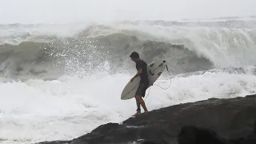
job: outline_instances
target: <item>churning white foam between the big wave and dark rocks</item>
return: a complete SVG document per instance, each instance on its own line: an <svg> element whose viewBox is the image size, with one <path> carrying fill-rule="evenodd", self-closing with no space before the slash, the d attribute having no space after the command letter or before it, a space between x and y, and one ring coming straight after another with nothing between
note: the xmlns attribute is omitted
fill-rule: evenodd
<svg viewBox="0 0 256 144"><path fill-rule="evenodd" d="M134 99L120 99L130 78L126 74L99 74L82 79L1 83L0 139L13 143L71 139L101 124L122 122L136 110ZM166 87L169 82L159 79L155 84ZM150 88L146 106L155 110L212 97L244 96L254 93L255 85L256 77L250 74L205 73L173 78L168 90Z"/></svg>

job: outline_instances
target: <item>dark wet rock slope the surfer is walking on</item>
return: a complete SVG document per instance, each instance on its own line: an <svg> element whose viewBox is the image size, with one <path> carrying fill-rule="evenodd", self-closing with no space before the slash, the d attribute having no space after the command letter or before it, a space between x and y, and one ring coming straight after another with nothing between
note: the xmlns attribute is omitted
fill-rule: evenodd
<svg viewBox="0 0 256 144"><path fill-rule="evenodd" d="M38 144L255 144L256 95L210 98L98 126L70 141Z"/></svg>

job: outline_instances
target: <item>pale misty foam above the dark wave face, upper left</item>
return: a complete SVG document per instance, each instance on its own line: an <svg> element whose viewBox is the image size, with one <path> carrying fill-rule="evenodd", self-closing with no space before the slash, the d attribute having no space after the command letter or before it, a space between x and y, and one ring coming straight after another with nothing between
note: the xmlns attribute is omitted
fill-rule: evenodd
<svg viewBox="0 0 256 144"><path fill-rule="evenodd" d="M74 34L86 29L86 26L88 25L90 25L89 22L72 23L66 25L38 24L2 26L0 28L0 44L8 43L18 45L20 42L24 41L49 42L47 37L73 36ZM44 38L45 36L46 38Z"/></svg>

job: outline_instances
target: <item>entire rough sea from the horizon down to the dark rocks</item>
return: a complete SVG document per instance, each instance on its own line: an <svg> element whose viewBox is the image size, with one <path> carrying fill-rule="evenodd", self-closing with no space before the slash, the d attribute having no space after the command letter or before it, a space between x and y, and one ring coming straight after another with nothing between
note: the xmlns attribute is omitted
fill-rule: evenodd
<svg viewBox="0 0 256 144"><path fill-rule="evenodd" d="M166 59L170 70L146 91L148 110L255 94L254 16L180 21L126 17L62 24L19 23L11 17L14 22L2 22L0 143L72 139L130 118L135 100L120 97L136 74L129 58L134 50L148 63Z"/></svg>

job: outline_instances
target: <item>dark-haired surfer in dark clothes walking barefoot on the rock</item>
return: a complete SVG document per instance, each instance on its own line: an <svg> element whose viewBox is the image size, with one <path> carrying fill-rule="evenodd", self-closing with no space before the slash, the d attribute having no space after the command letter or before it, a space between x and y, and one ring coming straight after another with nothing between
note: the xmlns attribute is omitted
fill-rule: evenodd
<svg viewBox="0 0 256 144"><path fill-rule="evenodd" d="M146 62L144 62L142 59L139 58L139 54L137 52L132 52L130 54L130 58L132 61L134 61L136 63L136 69L138 70L138 73L134 75L133 78L130 79L130 82L134 81L134 78L140 76L141 80L139 82L138 85L138 89L136 90L135 93L135 99L136 99L136 103L137 103L137 113L134 115L138 115L141 114L141 105L144 109L145 112L148 112L148 110L146 109L146 105L144 100L142 99L142 97L145 97L146 94L146 89L149 86L149 78L146 72Z"/></svg>

